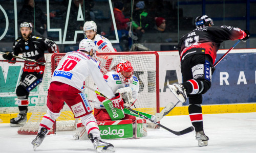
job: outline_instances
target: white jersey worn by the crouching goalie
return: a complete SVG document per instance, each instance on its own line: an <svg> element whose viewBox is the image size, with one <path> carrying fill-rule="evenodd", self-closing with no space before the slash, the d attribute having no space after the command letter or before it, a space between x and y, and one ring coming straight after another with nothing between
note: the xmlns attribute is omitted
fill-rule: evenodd
<svg viewBox="0 0 256 153"><path fill-rule="evenodd" d="M114 93L117 91L117 89L130 87L132 89L133 98L137 99L140 85L138 79L134 75L129 79L129 84L122 83L119 73L116 71L106 73L103 78L105 79L106 83L108 83L108 85L111 87ZM94 108L105 109L102 104L102 101L105 100L105 98L98 94L95 94L95 97L96 103L94 104Z"/></svg>

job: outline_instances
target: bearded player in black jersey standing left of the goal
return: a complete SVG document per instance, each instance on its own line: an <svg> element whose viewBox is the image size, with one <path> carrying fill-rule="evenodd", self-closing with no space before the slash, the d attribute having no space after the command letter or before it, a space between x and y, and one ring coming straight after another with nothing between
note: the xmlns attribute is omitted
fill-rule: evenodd
<svg viewBox="0 0 256 153"><path fill-rule="evenodd" d="M39 35L32 35L31 23L22 22L20 24L20 33L22 37L14 41L12 53L3 54L4 59L15 61L13 55L22 54L24 58L45 62L45 50L48 50L49 53L59 53L55 42ZM44 70L44 65L24 64L20 82L16 89L17 101L15 104L18 105L19 114L11 119L10 126L23 126L26 123L29 92L41 83Z"/></svg>

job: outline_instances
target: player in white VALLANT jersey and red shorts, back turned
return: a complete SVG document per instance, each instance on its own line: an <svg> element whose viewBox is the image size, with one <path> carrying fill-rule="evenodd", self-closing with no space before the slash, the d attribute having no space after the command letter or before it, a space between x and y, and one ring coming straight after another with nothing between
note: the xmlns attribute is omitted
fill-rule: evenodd
<svg viewBox="0 0 256 153"><path fill-rule="evenodd" d="M74 113L75 118L80 118L86 126L88 137L94 148L100 152L114 152L114 146L101 140L99 127L92 114L92 107L82 92L84 80L91 75L98 86L99 91L111 99L116 108L123 108L123 100L120 94L114 95L100 72L99 63L95 56L95 44L92 40L83 39L79 44L79 51L69 52L63 57L52 75L51 84L47 96L47 113L42 118L38 134L32 141L36 149L51 130L54 121L60 115L64 101Z"/></svg>

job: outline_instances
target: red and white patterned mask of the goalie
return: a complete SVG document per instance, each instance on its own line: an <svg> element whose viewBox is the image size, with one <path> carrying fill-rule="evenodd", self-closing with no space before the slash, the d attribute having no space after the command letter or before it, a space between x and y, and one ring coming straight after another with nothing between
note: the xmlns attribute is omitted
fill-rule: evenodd
<svg viewBox="0 0 256 153"><path fill-rule="evenodd" d="M133 66L130 61L122 60L116 69L119 73L123 82L128 82L128 80L133 76Z"/></svg>

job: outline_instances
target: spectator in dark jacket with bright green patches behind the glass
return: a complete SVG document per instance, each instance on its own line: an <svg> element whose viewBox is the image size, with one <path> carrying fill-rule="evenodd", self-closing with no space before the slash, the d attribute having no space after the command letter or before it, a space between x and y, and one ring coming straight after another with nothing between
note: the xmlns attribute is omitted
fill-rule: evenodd
<svg viewBox="0 0 256 153"><path fill-rule="evenodd" d="M136 8L133 15L133 29L136 35L138 36L138 41L140 41L140 38L145 33L145 31L149 28L150 25L150 18L148 17L148 13L144 9L145 2L139 1L136 4Z"/></svg>

